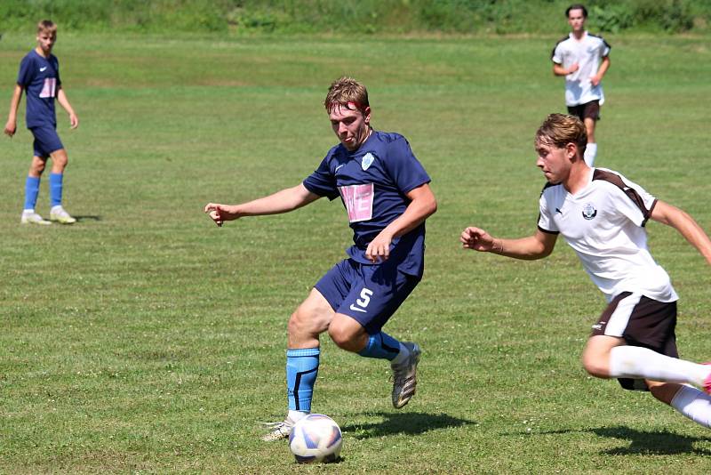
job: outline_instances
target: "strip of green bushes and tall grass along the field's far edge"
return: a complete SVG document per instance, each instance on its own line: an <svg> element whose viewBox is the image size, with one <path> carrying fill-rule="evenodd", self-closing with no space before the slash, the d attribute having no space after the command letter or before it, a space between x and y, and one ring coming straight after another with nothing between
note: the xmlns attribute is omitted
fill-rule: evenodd
<svg viewBox="0 0 711 475"><path fill-rule="evenodd" d="M2 0L0 31L559 33L569 0ZM707 28L707 0L588 0L590 28L682 32Z"/></svg>

